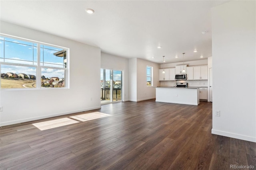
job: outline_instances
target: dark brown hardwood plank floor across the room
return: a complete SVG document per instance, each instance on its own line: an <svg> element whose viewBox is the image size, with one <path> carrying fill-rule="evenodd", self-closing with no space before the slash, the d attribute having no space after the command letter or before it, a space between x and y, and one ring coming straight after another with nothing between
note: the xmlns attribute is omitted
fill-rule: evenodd
<svg viewBox="0 0 256 170"><path fill-rule="evenodd" d="M111 116L40 131L32 123L99 111ZM212 103L146 100L0 128L0 169L227 170L253 165L256 143L211 134Z"/></svg>

